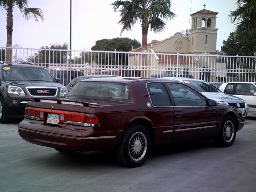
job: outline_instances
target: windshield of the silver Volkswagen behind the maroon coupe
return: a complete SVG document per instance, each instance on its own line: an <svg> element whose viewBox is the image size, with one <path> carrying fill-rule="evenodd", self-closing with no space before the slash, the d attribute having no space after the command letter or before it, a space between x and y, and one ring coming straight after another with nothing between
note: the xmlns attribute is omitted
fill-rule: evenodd
<svg viewBox="0 0 256 192"><path fill-rule="evenodd" d="M190 87L198 90L199 92L221 92L218 88L214 87L206 81L190 81L184 80L184 83L188 84Z"/></svg>

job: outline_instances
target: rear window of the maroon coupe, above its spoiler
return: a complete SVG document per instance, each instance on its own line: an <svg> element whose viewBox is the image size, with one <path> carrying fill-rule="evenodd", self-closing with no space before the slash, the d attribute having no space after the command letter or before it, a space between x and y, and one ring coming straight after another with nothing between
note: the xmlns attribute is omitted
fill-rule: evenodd
<svg viewBox="0 0 256 192"><path fill-rule="evenodd" d="M113 82L78 82L68 97L92 98L103 100L131 101L130 89L127 84Z"/></svg>

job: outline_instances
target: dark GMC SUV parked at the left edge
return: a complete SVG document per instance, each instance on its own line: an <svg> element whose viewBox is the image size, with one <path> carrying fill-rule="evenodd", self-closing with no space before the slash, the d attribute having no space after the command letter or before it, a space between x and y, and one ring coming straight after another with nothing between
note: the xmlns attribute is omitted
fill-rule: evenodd
<svg viewBox="0 0 256 192"><path fill-rule="evenodd" d="M23 118L27 102L34 98L61 98L68 94L65 86L33 64L0 64L0 79L0 123Z"/></svg>

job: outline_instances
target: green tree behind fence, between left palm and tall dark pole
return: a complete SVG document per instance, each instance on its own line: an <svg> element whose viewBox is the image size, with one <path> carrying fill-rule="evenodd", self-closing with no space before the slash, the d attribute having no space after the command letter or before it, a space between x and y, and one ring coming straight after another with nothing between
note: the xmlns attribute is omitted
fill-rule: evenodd
<svg viewBox="0 0 256 192"><path fill-rule="evenodd" d="M37 64L43 64L48 66L49 53L50 53L50 64L67 64L68 63L68 44L51 44L50 46L42 46L42 50L38 51L34 56L28 58L28 62L34 62ZM59 49L59 51L58 51Z"/></svg>

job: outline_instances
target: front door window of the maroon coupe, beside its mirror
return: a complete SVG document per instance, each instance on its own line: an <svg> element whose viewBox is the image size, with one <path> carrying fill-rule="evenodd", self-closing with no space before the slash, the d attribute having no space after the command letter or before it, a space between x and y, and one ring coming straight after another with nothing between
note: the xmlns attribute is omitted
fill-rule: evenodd
<svg viewBox="0 0 256 192"><path fill-rule="evenodd" d="M206 106L206 98L192 88L179 83L166 83L175 106Z"/></svg>

